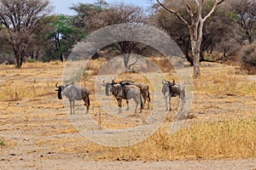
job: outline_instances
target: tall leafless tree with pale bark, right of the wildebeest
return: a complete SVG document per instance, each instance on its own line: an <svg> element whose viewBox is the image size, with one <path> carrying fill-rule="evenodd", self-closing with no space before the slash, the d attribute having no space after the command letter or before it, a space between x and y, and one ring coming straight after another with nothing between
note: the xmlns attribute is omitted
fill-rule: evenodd
<svg viewBox="0 0 256 170"><path fill-rule="evenodd" d="M193 57L194 65L194 77L200 76L200 54L201 54L201 42L203 26L206 20L213 14L220 3L224 0L214 0L212 1L212 8L210 11L203 16L202 8L205 0L195 0L195 8L192 8L189 1L184 0L183 5L185 5L187 14L189 14L189 19L185 19L181 14L179 14L172 7L169 7L165 3L161 3L160 0L156 0L162 8L165 8L171 14L175 14L179 20L183 22L185 26L189 29L189 38L191 43L191 52ZM191 2L191 1L190 1Z"/></svg>

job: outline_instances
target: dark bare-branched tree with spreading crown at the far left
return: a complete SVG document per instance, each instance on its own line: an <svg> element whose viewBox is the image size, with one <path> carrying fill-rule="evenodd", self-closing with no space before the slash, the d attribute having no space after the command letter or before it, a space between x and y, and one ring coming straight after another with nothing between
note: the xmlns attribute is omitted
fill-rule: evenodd
<svg viewBox="0 0 256 170"><path fill-rule="evenodd" d="M52 11L49 0L0 0L0 23L9 33L16 67L21 68L27 48L35 37L38 20Z"/></svg>

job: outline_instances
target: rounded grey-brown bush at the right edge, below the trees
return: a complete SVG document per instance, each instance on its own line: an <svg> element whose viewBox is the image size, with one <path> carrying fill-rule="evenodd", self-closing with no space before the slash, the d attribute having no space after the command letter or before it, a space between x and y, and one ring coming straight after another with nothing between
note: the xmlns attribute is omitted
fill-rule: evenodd
<svg viewBox="0 0 256 170"><path fill-rule="evenodd" d="M256 42L241 48L240 56L242 68L248 74L256 74Z"/></svg>

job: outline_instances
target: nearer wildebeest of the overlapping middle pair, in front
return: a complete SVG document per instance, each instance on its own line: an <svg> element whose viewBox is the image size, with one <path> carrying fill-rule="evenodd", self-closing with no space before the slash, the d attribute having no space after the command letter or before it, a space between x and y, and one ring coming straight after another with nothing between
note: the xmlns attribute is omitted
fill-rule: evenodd
<svg viewBox="0 0 256 170"><path fill-rule="evenodd" d="M143 109L143 99L141 96L141 90L135 85L125 85L121 83L112 82L110 84L110 92L118 101L119 113L122 112L122 99L126 99L127 110L129 109L128 99L133 99L136 103L135 111L137 112L137 106L140 104L140 112Z"/></svg>

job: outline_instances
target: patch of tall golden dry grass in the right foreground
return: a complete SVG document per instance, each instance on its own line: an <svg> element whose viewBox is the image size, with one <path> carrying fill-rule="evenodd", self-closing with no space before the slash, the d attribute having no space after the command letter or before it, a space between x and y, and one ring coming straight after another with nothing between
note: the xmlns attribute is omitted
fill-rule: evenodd
<svg viewBox="0 0 256 170"><path fill-rule="evenodd" d="M194 122L174 135L160 129L141 144L102 147L96 159L165 161L184 159L247 159L256 156L256 119L241 122Z"/></svg>

